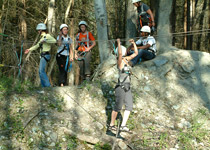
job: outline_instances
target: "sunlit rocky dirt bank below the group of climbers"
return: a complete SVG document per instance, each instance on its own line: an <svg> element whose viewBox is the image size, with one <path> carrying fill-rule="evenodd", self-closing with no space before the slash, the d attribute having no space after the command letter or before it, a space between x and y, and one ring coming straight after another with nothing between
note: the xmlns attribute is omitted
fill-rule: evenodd
<svg viewBox="0 0 210 150"><path fill-rule="evenodd" d="M0 107L3 127L0 149L8 145L26 150L94 149L99 143L104 144L104 149L111 149L113 144L115 149L182 149L186 147L184 144L189 144L183 142L186 142L184 137L191 137L186 133L193 134L188 140L192 146L189 149L209 147L208 53L171 51L142 62L132 72L134 110L128 126L134 132L119 136L126 140L116 142L116 135L106 129L118 78L113 56L98 67L91 83L5 97ZM16 128L6 121L8 113L10 118L18 118ZM206 132L204 139L200 135L203 131ZM150 141L151 137L154 139Z"/></svg>

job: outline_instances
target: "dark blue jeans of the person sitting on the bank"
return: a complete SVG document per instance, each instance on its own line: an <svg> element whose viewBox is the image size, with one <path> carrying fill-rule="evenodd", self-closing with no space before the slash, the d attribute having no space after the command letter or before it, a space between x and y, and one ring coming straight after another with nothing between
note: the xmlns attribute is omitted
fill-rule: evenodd
<svg viewBox="0 0 210 150"><path fill-rule="evenodd" d="M141 59L150 60L150 59L153 59L153 58L155 58L154 53L149 52L148 50L139 49L138 50L138 55L131 60L132 66L135 66L138 63L138 61L141 60Z"/></svg>

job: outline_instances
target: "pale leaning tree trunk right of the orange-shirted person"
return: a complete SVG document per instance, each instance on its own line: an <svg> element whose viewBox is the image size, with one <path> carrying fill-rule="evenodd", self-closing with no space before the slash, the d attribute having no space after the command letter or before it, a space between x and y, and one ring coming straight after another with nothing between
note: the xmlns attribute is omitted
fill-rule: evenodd
<svg viewBox="0 0 210 150"><path fill-rule="evenodd" d="M95 15L98 31L100 61L105 61L109 55L107 12L105 0L95 0Z"/></svg>

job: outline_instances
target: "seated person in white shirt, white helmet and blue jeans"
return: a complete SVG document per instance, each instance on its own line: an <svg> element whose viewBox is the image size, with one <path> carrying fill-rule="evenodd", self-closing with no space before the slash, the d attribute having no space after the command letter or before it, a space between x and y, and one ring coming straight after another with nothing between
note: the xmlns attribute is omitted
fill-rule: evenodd
<svg viewBox="0 0 210 150"><path fill-rule="evenodd" d="M150 33L151 29L149 26L143 26L141 28L141 38L136 41L138 55L129 62L131 66L135 66L142 59L151 60L155 58L157 52L156 41L153 36L150 36ZM130 45L127 52L132 53L132 49L133 45Z"/></svg>

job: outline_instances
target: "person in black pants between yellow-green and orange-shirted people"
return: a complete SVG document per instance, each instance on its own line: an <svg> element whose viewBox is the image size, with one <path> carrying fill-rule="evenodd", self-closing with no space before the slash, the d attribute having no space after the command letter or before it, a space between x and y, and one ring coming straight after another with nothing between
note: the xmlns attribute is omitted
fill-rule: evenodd
<svg viewBox="0 0 210 150"><path fill-rule="evenodd" d="M69 65L69 60L73 61L73 51L72 51L72 39L68 35L68 25L60 25L60 34L57 36L58 51L56 55L56 60L59 68L59 85L64 86L67 84L67 68ZM70 57L69 57L70 56ZM69 59L70 58L70 59Z"/></svg>

